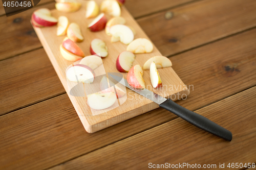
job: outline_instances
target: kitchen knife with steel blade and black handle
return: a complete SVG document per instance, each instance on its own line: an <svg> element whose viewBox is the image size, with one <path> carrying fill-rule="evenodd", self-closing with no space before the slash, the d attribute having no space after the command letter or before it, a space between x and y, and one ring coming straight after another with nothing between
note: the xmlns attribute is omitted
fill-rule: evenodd
<svg viewBox="0 0 256 170"><path fill-rule="evenodd" d="M207 119L206 117L197 114L193 111L190 111L177 103L173 102L170 99L165 99L161 95L158 95L148 89L136 89L129 85L129 83L123 78L119 76L115 76L112 74L109 74L113 79L121 83L122 85L126 86L127 88L130 88L131 90L143 95L145 98L152 100L153 102L159 104L159 107L164 108L177 116L181 117L182 119L186 120L192 125L195 125L196 127L203 129L211 134L214 134L216 136L219 136L225 140L231 141L232 139L232 133L225 128L221 127L220 125L217 125L216 123L212 122L211 120ZM122 81L121 81L122 80Z"/></svg>

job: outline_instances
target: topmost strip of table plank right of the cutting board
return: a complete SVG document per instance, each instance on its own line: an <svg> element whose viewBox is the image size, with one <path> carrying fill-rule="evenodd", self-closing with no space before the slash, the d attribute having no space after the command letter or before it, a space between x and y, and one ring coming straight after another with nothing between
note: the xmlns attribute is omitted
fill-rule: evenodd
<svg viewBox="0 0 256 170"><path fill-rule="evenodd" d="M134 18L142 17L156 13L168 8L173 8L179 5L186 5L187 3L195 2L195 0L180 0L180 1L169 1L169 0L129 0L125 2L125 7L133 15Z"/></svg>

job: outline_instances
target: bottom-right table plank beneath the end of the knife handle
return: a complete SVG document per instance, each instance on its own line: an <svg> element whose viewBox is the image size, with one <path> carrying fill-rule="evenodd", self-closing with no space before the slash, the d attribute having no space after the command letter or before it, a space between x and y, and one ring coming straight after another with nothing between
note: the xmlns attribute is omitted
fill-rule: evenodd
<svg viewBox="0 0 256 170"><path fill-rule="evenodd" d="M231 142L181 118L121 140L52 169L145 169L152 164L216 164L256 161L256 87L196 112L230 130ZM186 169L193 169L187 168ZM241 168L242 169L242 168Z"/></svg>

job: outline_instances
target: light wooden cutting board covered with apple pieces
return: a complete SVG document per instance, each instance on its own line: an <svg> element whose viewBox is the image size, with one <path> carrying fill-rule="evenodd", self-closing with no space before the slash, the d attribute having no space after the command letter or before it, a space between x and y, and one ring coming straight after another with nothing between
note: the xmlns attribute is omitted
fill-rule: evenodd
<svg viewBox="0 0 256 170"><path fill-rule="evenodd" d="M96 1L98 5L100 5L101 0ZM102 39L106 45L108 46L109 55L106 58L103 58L103 66L105 72L118 72L116 69L116 59L118 55L126 50L125 44L121 42L111 43L111 37L105 34L105 31L100 32L91 32L87 29L87 26L93 19L86 19L86 2L82 1L82 7L79 11L74 13L63 13L59 12L56 9L52 10L52 16L58 18L61 15L67 16L70 22L76 22L81 28L82 35L84 36L84 40L77 45L83 50L86 56L90 54L90 43L94 38ZM131 26L136 31L136 38L147 38L147 35L140 28L138 23L132 17L132 15L126 10L124 6L121 7L121 16L126 19L127 26ZM109 17L111 18L111 17ZM52 62L52 65L57 72L57 75L64 86L67 94L87 132L93 133L99 131L101 129L110 127L112 125L123 122L124 120L130 119L142 113L151 111L153 109L158 108L159 106L148 100L146 98L142 98L136 92L126 88L127 99L121 101L122 98L118 101L119 105L117 107L112 107L106 112L101 114L94 114L90 107L87 105L86 96L73 96L70 94L70 85L74 86L77 83L70 83L66 80L66 69L73 62L65 60L59 51L59 45L62 43L62 40L66 36L56 36L57 26L53 27L45 27L45 28L34 28L39 40L44 46L45 51ZM156 46L154 45L154 50L149 54L136 54L136 59L133 65L140 64L143 66L147 59L161 56L161 53L158 51ZM154 91L157 94L164 96L165 98L170 97L173 101L181 99L182 96L188 95L189 90L178 77L176 72L172 67L161 68L158 69L160 77L162 79L163 88L154 89L151 86L149 70L144 70L144 80L146 84L146 88ZM126 79L127 73L122 73L123 77ZM97 74L96 74L97 76ZM84 90L84 84L81 85L82 90ZM120 103L123 103L120 105ZM118 104L118 103L117 103ZM161 116L161 115L159 115Z"/></svg>

